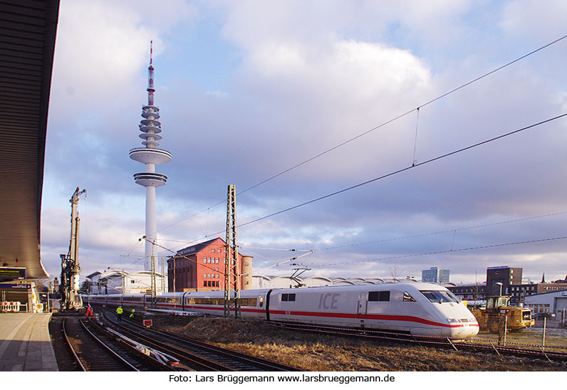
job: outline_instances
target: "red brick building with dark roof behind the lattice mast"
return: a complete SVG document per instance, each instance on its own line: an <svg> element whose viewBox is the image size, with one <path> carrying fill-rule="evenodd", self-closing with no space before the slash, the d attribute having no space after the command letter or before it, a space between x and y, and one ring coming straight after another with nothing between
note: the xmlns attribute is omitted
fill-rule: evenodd
<svg viewBox="0 0 567 390"><path fill-rule="evenodd" d="M167 259L167 278L170 292L224 290L224 256L226 243L222 238L195 244L177 251ZM252 258L238 255L241 290L251 288Z"/></svg>

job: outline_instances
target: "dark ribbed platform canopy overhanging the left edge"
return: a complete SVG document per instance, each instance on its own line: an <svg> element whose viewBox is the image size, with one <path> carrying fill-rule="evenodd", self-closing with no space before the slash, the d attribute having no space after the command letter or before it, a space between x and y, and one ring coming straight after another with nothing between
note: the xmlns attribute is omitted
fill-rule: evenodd
<svg viewBox="0 0 567 390"><path fill-rule="evenodd" d="M46 278L41 189L59 0L0 0L0 267Z"/></svg>

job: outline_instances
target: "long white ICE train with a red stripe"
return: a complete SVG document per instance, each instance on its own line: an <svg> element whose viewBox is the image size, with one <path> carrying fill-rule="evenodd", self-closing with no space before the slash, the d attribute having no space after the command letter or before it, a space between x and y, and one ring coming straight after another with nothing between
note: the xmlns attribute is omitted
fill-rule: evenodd
<svg viewBox="0 0 567 390"><path fill-rule="evenodd" d="M89 295L84 302L150 307L147 294ZM168 292L157 309L224 314L224 291ZM241 317L415 336L466 339L479 332L474 315L446 288L432 283L385 283L241 290Z"/></svg>

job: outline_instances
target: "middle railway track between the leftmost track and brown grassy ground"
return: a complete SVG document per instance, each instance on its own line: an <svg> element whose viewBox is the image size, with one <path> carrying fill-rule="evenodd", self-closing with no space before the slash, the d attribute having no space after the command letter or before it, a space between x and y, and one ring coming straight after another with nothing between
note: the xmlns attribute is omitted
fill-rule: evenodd
<svg viewBox="0 0 567 390"><path fill-rule="evenodd" d="M114 314L104 312L105 320L128 337L160 349L197 371L298 371L284 364L234 352L181 337L171 332L142 327L131 321L115 321Z"/></svg>

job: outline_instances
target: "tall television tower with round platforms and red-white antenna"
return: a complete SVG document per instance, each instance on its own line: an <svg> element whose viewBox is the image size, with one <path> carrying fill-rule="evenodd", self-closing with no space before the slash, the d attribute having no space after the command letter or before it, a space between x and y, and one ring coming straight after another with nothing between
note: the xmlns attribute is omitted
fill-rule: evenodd
<svg viewBox="0 0 567 390"><path fill-rule="evenodd" d="M157 149L162 139L162 124L160 119L160 108L154 105L154 67L152 65L152 43L150 42L150 66L147 68L147 105L142 106L142 119L140 121L140 138L142 145L130 150L130 158L145 164L145 172L134 174L136 184L146 188L146 241L144 269L152 269L153 243L157 239L157 227L155 223L155 189L165 186L167 176L155 172L155 166L171 161L171 153L167 150Z"/></svg>

